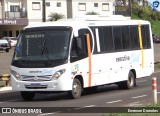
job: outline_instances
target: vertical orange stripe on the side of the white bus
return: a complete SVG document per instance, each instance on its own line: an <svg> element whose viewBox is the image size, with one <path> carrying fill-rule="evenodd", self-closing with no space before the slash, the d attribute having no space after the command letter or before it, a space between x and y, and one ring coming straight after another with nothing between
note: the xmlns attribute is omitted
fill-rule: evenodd
<svg viewBox="0 0 160 116"><path fill-rule="evenodd" d="M87 50L88 50L88 68L89 68L89 78L88 78L88 86L91 86L91 75L92 75L92 63L91 63L91 45L90 45L90 37L89 34L86 34L87 39Z"/></svg>

